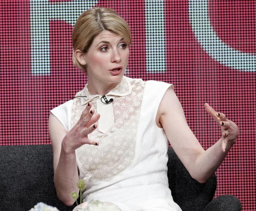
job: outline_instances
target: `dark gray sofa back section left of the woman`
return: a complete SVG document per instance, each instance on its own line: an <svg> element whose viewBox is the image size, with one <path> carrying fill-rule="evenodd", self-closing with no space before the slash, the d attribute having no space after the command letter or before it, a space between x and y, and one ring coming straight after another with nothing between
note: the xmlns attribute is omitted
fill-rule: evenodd
<svg viewBox="0 0 256 211"><path fill-rule="evenodd" d="M57 197L53 184L53 154L50 144L0 146L0 207L27 211L38 202L72 210Z"/></svg>

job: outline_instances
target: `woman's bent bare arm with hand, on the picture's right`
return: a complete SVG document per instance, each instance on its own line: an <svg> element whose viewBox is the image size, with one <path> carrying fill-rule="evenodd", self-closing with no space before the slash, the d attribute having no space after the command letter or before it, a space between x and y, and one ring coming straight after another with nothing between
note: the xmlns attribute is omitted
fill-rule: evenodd
<svg viewBox="0 0 256 211"><path fill-rule="evenodd" d="M238 136L238 127L224 114L208 104L206 111L221 126L222 137L206 151L188 127L181 104L169 88L160 103L156 122L163 127L174 151L190 175L200 183L206 182L223 162Z"/></svg>

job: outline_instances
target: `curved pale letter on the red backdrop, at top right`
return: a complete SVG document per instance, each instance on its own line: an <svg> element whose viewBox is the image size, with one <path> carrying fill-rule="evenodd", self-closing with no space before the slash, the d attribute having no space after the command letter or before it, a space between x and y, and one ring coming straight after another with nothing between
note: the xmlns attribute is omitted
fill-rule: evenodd
<svg viewBox="0 0 256 211"><path fill-rule="evenodd" d="M207 0L189 1L188 9L192 30L203 49L225 66L242 71L256 71L256 55L243 53L226 45L213 30L207 7ZM209 42L214 45L209 45Z"/></svg>

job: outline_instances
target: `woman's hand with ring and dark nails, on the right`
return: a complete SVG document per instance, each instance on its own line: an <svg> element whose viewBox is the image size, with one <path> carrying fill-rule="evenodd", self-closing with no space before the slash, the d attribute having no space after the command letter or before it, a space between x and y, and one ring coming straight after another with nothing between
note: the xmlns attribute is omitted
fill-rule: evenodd
<svg viewBox="0 0 256 211"><path fill-rule="evenodd" d="M205 103L204 107L221 128L222 151L229 151L232 145L236 142L238 136L237 125L234 122L228 120L225 114L216 112L208 103Z"/></svg>

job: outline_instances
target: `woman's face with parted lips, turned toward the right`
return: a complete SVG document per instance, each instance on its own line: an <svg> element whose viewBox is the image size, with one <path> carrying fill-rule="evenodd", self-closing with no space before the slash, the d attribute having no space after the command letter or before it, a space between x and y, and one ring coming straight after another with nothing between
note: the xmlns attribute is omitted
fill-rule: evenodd
<svg viewBox="0 0 256 211"><path fill-rule="evenodd" d="M124 39L108 30L102 31L84 54L88 84L115 87L124 75L128 58L129 46Z"/></svg>

